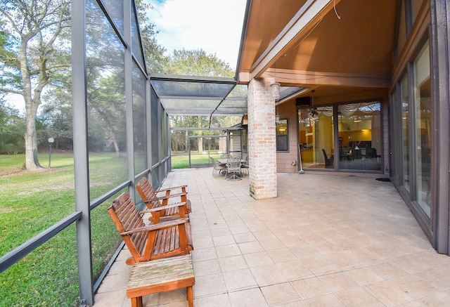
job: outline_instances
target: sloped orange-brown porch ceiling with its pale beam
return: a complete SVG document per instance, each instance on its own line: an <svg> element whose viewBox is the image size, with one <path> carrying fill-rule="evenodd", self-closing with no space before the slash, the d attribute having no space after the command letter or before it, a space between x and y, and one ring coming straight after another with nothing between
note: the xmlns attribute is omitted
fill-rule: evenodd
<svg viewBox="0 0 450 307"><path fill-rule="evenodd" d="M274 77L296 88L279 103L314 105L384 97L397 37L396 0L248 0L239 84Z"/></svg>

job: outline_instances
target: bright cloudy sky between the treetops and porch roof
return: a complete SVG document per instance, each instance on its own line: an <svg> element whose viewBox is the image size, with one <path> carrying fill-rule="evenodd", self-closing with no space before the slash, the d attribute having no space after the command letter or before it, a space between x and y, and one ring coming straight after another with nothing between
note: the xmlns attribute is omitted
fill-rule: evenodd
<svg viewBox="0 0 450 307"><path fill-rule="evenodd" d="M243 30L245 0L150 1L158 44L169 53L185 48L215 54L235 69Z"/></svg>

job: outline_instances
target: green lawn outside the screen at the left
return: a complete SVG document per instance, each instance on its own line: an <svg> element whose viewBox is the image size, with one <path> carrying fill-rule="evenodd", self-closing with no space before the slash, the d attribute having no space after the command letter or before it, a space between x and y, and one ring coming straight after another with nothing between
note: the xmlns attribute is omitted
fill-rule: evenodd
<svg viewBox="0 0 450 307"><path fill-rule="evenodd" d="M51 169L20 171L23 155L0 156L0 255L10 252L75 211L73 157L52 154ZM49 155L39 155L48 166ZM124 181L126 163L113 154L90 159L92 198ZM91 211L94 280L121 238L106 211ZM75 225L53 237L0 276L0 306L77 306L78 267Z"/></svg>

